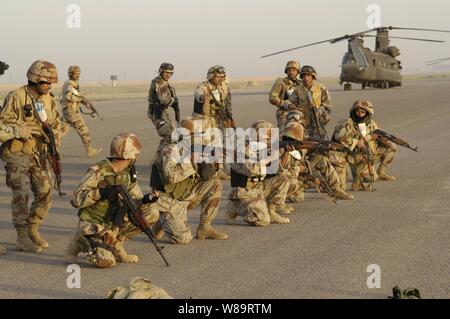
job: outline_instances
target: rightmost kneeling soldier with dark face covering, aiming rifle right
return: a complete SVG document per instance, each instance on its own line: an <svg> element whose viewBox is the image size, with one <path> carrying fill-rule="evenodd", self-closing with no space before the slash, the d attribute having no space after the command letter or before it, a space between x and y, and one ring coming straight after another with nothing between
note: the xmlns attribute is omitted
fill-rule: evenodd
<svg viewBox="0 0 450 319"><path fill-rule="evenodd" d="M373 131L380 126L372 119L374 108L369 101L356 101L350 109L350 117L340 121L333 134L336 142L342 143L356 151L355 156L341 154L355 172L353 191L369 191L365 183L376 179L394 181L395 177L386 173L394 161L397 147L392 142L381 138ZM375 163L379 162L375 173ZM341 182L347 181L347 166L337 167Z"/></svg>

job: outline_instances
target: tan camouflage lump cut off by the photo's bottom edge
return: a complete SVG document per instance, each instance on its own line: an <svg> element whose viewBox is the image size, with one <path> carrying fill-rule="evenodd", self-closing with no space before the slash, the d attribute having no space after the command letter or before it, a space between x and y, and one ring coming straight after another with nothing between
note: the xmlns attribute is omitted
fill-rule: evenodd
<svg viewBox="0 0 450 319"><path fill-rule="evenodd" d="M173 299L167 291L155 286L146 278L133 278L129 287L117 287L108 293L107 299Z"/></svg>

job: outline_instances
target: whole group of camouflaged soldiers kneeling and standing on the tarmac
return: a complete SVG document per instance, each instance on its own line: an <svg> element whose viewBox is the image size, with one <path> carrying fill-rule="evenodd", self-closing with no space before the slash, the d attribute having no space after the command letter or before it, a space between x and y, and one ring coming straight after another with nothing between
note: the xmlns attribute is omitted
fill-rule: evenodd
<svg viewBox="0 0 450 319"><path fill-rule="evenodd" d="M12 190L17 247L25 252L37 253L48 247L39 232L51 207L55 185L48 128L58 148L72 126L88 156L101 152L93 148L80 114L80 104L90 104L79 92L80 72L79 67L69 68L61 98L63 118L50 92L51 85L58 81L56 67L42 60L31 65L28 84L8 94L0 110L1 159L6 163L6 184ZM196 207L201 213L195 237L228 239L225 232L213 227L223 179L229 180L231 186L227 221L233 224L241 217L252 226L288 224L287 215L294 210L291 204L302 202L305 191L312 187L327 189L335 200L352 200L353 195L347 192L348 167L353 175L353 191L370 191L377 180L395 180L386 172L395 145L374 133L379 126L372 119L374 107L370 102L356 101L349 118L338 123L328 140L326 126L332 105L329 92L317 82L316 71L290 61L285 73L269 95L269 102L277 107L278 128L270 121L255 121L251 128L258 143L246 141L243 150L231 150L244 154L246 160L242 162L198 160L195 151L188 156L186 151L196 143L201 144L200 149L222 145L226 132L236 129L225 68L216 65L208 70L206 80L195 89L192 116L181 119L178 97L170 83L174 66L163 63L151 82L148 98L148 117L161 137L151 164L151 191L144 195L136 179L135 163L141 152L138 137L132 133L114 137L110 155L92 166L73 191L71 204L78 209L79 222L65 252L67 262L76 263L80 253L87 253L88 260L99 268L110 268L117 262L138 262L138 256L126 252L124 243L143 229L126 216L118 221L118 186L125 187L134 198L156 240L166 236L173 244L185 245L194 238L188 212ZM209 130L223 135L210 134ZM279 140L279 149L271 149L274 139ZM304 147L316 145L304 144L307 141L326 141L341 148ZM369 149L373 155L370 160ZM262 151L270 156L258 156ZM227 152L230 150L223 151ZM258 160L249 160L254 154ZM278 165L275 171L271 169L274 162ZM28 207L30 188L33 201ZM5 253L3 247L0 253Z"/></svg>

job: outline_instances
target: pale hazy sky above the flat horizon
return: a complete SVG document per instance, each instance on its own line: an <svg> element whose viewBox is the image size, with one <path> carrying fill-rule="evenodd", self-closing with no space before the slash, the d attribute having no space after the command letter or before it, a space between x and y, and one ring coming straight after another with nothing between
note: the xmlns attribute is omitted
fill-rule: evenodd
<svg viewBox="0 0 450 319"><path fill-rule="evenodd" d="M338 75L347 43L261 60L272 51L368 29L370 4L381 6L382 25L450 29L447 0L15 0L2 1L0 60L11 66L0 83L22 82L36 59L54 62L61 79L78 64L82 80L127 80L155 75L175 64L175 80L198 80L222 64L231 77L283 73L289 59ZM69 4L81 8L81 28L69 29ZM393 35L442 39L444 44L394 40L406 72L431 70L423 62L450 56L450 34L397 31ZM373 40L366 44L373 47Z"/></svg>

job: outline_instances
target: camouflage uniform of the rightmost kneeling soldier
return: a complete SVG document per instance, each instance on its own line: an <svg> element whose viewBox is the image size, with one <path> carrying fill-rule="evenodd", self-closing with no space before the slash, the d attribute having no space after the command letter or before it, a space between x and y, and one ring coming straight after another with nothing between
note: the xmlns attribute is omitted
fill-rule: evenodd
<svg viewBox="0 0 450 319"><path fill-rule="evenodd" d="M373 107L361 107L361 105L358 105L358 102L355 102L355 105L350 110L350 113L354 112L357 108L363 108L369 114L369 117L365 120L365 122L361 123L361 125L365 128L365 136L369 136L373 133L373 131L380 128L380 126L371 118L373 115ZM342 120L337 124L333 134L333 140L342 143L350 150L356 152L354 156L334 152L334 157L336 159L335 163L338 163L338 165L335 164L335 167L338 171L341 183L344 185L347 181L347 163L352 168L352 171L355 172L356 181L354 182L370 181L371 179L369 174L369 166L367 165L361 151L356 147L360 139L361 133L358 123L353 121L351 117ZM383 174L385 169L393 162L397 147L390 141L381 143L380 141L371 140L368 143L373 154L373 165L371 165L371 169L373 170L373 174L375 175L374 179L376 180L377 172L375 172L374 164L380 163L378 173Z"/></svg>

